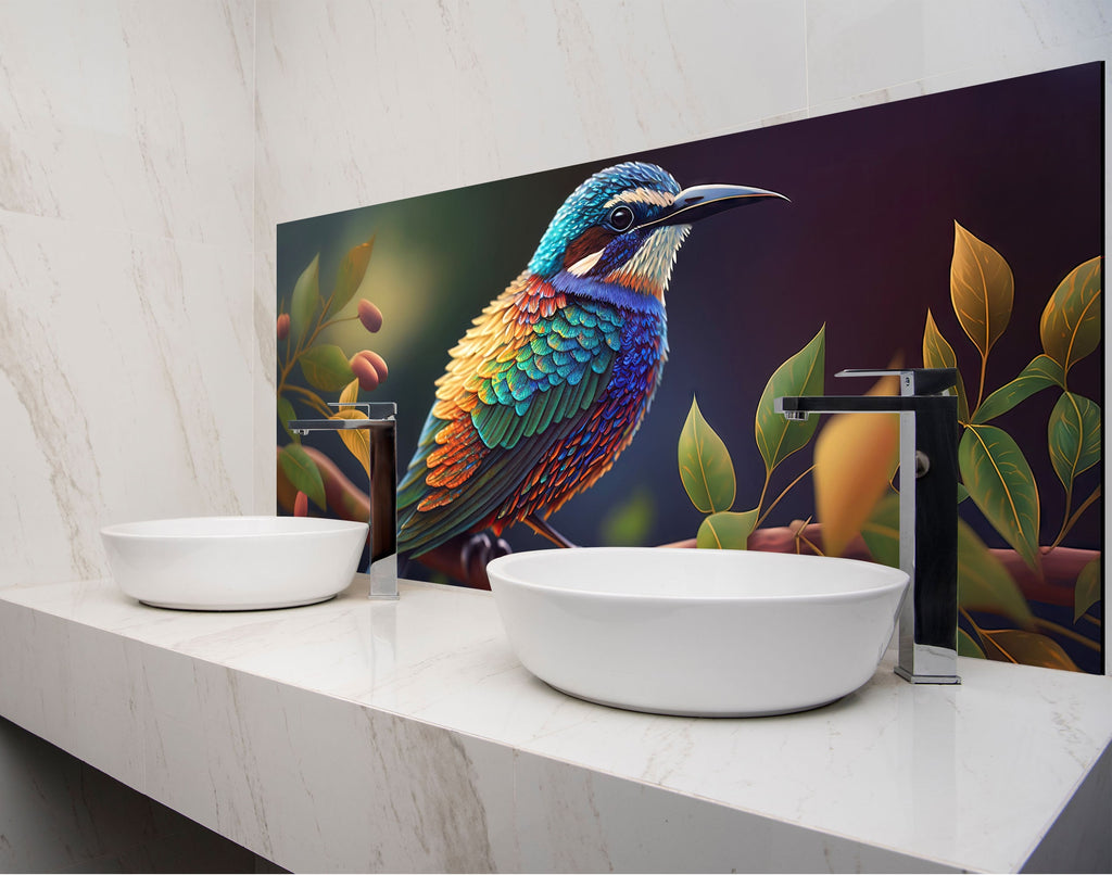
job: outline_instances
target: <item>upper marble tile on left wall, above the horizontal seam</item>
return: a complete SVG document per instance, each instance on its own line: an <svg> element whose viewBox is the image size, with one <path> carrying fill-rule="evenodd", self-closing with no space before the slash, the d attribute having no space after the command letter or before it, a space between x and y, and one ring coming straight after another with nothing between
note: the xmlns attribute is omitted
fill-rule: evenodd
<svg viewBox="0 0 1112 875"><path fill-rule="evenodd" d="M252 3L17 0L0 20L0 208L251 242Z"/></svg>

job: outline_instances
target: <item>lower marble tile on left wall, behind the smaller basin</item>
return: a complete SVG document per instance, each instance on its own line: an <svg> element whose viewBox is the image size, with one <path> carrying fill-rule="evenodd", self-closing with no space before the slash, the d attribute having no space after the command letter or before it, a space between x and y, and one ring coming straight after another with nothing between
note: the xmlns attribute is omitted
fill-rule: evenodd
<svg viewBox="0 0 1112 875"><path fill-rule="evenodd" d="M0 212L0 585L102 576L111 521L250 505L250 256Z"/></svg>

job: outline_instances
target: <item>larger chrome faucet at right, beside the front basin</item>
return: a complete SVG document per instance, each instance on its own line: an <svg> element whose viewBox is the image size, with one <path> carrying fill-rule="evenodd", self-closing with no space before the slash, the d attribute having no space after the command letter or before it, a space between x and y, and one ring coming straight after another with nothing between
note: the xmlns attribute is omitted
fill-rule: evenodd
<svg viewBox="0 0 1112 875"><path fill-rule="evenodd" d="M900 568L911 591L900 609L896 674L913 684L957 676L957 381L954 368L842 370L900 377L898 396L804 395L775 400L788 419L808 414L900 414Z"/></svg>

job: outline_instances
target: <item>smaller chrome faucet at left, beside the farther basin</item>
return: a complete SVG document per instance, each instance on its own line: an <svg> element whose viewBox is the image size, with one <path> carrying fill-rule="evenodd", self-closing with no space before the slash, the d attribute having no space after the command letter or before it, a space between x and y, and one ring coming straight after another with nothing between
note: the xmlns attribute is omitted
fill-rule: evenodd
<svg viewBox="0 0 1112 875"><path fill-rule="evenodd" d="M398 480L397 412L394 401L330 402L329 407L357 407L366 419L290 419L295 435L310 431L368 432L370 445L370 557L364 574L370 577L370 598L398 597Z"/></svg>

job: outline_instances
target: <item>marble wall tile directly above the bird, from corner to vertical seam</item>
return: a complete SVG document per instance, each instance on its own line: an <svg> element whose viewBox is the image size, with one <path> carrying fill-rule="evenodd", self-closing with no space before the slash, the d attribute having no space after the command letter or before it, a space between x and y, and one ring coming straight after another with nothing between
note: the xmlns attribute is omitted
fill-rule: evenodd
<svg viewBox="0 0 1112 875"><path fill-rule="evenodd" d="M800 109L803 9L262 0L259 230Z"/></svg>

